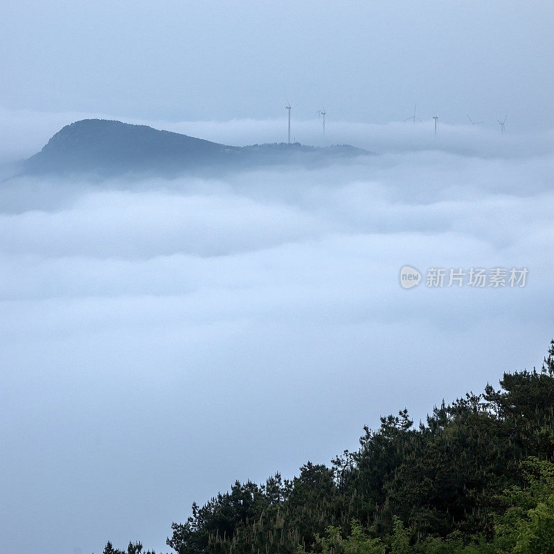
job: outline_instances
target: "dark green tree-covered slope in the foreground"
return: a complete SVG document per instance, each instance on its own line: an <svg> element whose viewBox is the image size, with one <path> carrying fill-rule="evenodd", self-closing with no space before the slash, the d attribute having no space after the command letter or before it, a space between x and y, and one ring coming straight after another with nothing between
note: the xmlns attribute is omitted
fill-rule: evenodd
<svg viewBox="0 0 554 554"><path fill-rule="evenodd" d="M178 554L554 553L554 340L542 369L364 427L356 452L292 481L237 481L183 524ZM129 544L129 554L141 552ZM123 554L107 544L105 554ZM153 553L151 553L153 554Z"/></svg>

